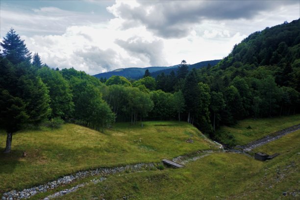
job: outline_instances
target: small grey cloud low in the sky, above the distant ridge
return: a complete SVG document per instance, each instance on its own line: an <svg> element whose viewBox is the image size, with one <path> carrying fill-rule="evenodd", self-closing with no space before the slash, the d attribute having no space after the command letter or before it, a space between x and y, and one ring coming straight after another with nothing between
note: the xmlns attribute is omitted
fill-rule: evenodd
<svg viewBox="0 0 300 200"><path fill-rule="evenodd" d="M163 55L163 42L161 40L147 42L137 37L129 38L126 41L116 40L116 44L125 49L129 54L138 57L144 62L149 62L151 66L167 63Z"/></svg>

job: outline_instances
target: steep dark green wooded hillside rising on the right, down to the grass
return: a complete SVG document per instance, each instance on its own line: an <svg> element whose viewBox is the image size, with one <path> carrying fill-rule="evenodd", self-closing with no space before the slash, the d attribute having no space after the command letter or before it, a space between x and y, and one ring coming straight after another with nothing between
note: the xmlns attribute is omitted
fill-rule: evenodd
<svg viewBox="0 0 300 200"><path fill-rule="evenodd" d="M198 75L214 93L217 107L211 109L219 116L211 121L216 124L299 113L300 19L250 34L215 67L201 68ZM222 99L223 109L218 107Z"/></svg>

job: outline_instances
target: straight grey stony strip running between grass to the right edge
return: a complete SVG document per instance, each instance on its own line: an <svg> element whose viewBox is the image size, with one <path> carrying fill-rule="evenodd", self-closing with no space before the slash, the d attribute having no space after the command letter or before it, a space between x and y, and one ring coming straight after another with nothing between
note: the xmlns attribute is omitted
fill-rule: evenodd
<svg viewBox="0 0 300 200"><path fill-rule="evenodd" d="M286 134L295 132L296 130L300 130L300 124L299 125L293 125L291 127L285 128L283 130L279 130L279 131L277 131L275 133L272 133L270 135L267 135L267 136L265 136L265 137L263 137L259 140L252 141L252 142L248 143L247 145L235 146L235 148L248 152L248 151L253 150L253 149L255 149L259 146L262 146L266 143L277 140L277 139L281 138L282 136L284 136Z"/></svg>

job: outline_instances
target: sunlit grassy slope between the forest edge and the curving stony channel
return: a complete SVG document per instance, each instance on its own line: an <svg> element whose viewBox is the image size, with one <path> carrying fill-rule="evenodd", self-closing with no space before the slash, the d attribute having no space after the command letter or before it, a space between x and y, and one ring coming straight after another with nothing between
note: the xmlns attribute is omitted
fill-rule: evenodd
<svg viewBox="0 0 300 200"><path fill-rule="evenodd" d="M193 144L185 142L190 137ZM0 151L4 141L1 132ZM82 169L158 162L213 148L199 130L184 122L145 122L144 127L120 123L105 134L72 124L56 130L22 131L13 136L12 153L0 153L0 192L35 186ZM25 158L23 151L28 153Z"/></svg>

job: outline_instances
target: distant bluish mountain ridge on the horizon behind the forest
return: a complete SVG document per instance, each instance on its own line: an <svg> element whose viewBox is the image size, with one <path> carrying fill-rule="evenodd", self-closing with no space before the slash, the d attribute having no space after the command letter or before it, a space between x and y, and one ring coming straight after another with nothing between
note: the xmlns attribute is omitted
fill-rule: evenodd
<svg viewBox="0 0 300 200"><path fill-rule="evenodd" d="M189 70L196 68L199 69L201 67L207 66L210 64L211 66L214 66L218 64L221 60L209 60L209 61L202 61L199 63L195 63L192 65L189 65ZM97 78L110 78L113 75L120 75L124 76L126 78L133 78L133 79L138 79L143 77L145 74L145 71L148 69L149 72L151 73L151 76L156 77L157 75L161 73L165 73L166 75L170 74L172 70L175 72L177 71L178 65L170 66L170 67L145 67L145 68L138 68L138 67L131 67L131 68L121 68L117 69L111 72L104 72L100 73L97 75L93 75Z"/></svg>

